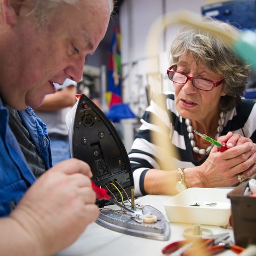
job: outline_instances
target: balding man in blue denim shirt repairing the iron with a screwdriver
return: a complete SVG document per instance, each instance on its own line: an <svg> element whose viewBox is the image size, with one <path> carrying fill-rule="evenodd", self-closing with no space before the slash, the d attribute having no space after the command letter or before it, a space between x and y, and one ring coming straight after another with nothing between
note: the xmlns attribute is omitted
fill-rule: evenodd
<svg viewBox="0 0 256 256"><path fill-rule="evenodd" d="M36 108L46 94L55 93L53 83L82 78L85 56L105 35L113 4L110 0L0 0L0 4L0 216L5 217L0 218L1 255L51 255L73 243L98 217L92 173L86 163L69 159L36 180L9 126L8 109L26 109L19 116L27 129L21 136L46 159L45 127L28 106Z"/></svg>

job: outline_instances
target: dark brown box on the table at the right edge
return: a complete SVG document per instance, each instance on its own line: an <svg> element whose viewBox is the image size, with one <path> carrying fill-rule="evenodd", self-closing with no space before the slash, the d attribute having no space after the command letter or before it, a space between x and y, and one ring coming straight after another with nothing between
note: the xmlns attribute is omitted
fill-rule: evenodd
<svg viewBox="0 0 256 256"><path fill-rule="evenodd" d="M244 180L228 193L235 243L242 247L256 244L256 197L244 196L249 180L250 178Z"/></svg>

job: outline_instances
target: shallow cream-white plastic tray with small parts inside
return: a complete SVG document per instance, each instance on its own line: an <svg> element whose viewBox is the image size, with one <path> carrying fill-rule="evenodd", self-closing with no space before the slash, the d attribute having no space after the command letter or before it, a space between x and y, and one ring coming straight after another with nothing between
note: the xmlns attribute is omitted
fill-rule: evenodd
<svg viewBox="0 0 256 256"><path fill-rule="evenodd" d="M226 226L231 215L227 188L188 188L164 202L171 222ZM199 204L200 206L193 206Z"/></svg>

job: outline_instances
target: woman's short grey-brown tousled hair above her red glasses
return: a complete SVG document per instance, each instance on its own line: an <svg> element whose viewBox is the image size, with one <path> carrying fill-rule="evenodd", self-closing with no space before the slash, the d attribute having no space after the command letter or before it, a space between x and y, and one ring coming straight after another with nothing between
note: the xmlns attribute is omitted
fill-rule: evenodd
<svg viewBox="0 0 256 256"><path fill-rule="evenodd" d="M239 30L234 26L207 19L209 26L221 26L227 34L237 35ZM185 26L181 29L171 45L171 65L176 64L184 54L190 54L196 61L203 61L205 66L225 79L220 99L220 109L230 110L241 103L244 95L250 67L243 63L233 51L231 42L208 33L207 31Z"/></svg>

